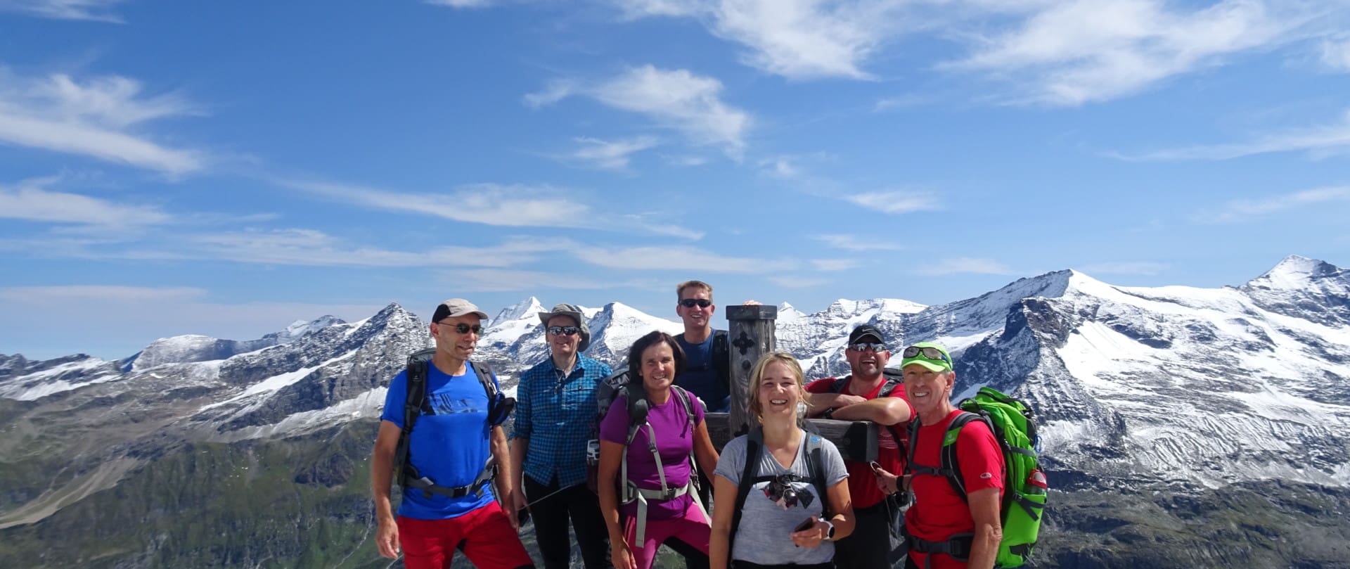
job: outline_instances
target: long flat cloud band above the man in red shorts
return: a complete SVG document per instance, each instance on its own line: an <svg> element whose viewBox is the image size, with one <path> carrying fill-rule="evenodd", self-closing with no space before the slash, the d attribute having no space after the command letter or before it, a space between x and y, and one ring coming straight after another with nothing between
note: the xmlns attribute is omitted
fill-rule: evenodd
<svg viewBox="0 0 1350 569"><path fill-rule="evenodd" d="M566 250L566 239L514 239L495 246L446 246L428 251L396 251L352 246L323 231L288 228L234 231L188 238L186 255L263 265L301 266L493 266L537 261L543 253Z"/></svg>

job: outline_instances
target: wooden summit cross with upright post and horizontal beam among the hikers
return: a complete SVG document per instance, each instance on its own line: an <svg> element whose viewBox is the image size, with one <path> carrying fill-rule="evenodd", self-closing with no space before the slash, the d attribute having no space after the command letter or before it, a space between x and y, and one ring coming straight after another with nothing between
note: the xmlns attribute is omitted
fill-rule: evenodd
<svg viewBox="0 0 1350 569"><path fill-rule="evenodd" d="M707 414L707 434L718 451L751 423L757 423L747 411L751 395L751 372L760 355L774 351L778 343L774 335L774 322L778 320L778 307L763 304L729 305L726 339L732 353L732 412ZM807 377L806 381L811 378ZM840 449L845 461L869 462L876 460L876 424L871 422L848 422L832 419L809 419L819 428L821 435Z"/></svg>

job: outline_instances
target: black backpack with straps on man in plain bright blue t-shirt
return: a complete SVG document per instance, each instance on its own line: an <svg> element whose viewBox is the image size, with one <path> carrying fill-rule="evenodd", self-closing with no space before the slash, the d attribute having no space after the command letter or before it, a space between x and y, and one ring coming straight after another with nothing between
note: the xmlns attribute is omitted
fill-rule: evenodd
<svg viewBox="0 0 1350 569"><path fill-rule="evenodd" d="M441 487L421 476L412 464L409 446L413 424L417 423L418 416L431 412L431 403L427 400L427 368L433 355L436 355L436 349L428 347L408 357L408 396L404 403L404 428L398 432L398 446L394 450L394 480L405 489L423 491L427 497L433 493L450 497L463 497L470 493L482 496L483 488L497 476L497 462L491 454L487 455L487 462L483 464L483 469L471 484L455 488ZM495 427L505 423L510 412L516 410L516 399L501 393L493 380L493 370L486 364L471 361L464 364L478 376L478 382L487 393L487 426Z"/></svg>

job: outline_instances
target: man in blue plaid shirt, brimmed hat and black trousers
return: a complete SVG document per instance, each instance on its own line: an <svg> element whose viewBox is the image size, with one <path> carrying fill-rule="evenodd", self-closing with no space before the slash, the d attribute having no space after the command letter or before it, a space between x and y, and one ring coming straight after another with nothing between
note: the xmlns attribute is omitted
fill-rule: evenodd
<svg viewBox="0 0 1350 569"><path fill-rule="evenodd" d="M520 376L510 460L524 484L516 484L512 505L518 510L526 496L531 500L545 569L567 569L571 562L568 518L586 569L605 569L609 534L599 499L586 488L586 443L595 426L595 385L612 370L580 354L590 346L580 308L558 304L539 320L552 357Z"/></svg>

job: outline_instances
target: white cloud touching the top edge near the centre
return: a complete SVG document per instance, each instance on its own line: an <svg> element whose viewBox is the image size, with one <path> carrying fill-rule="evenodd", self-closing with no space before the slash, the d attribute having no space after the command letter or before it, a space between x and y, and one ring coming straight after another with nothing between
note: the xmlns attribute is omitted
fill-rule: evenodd
<svg viewBox="0 0 1350 569"><path fill-rule="evenodd" d="M745 65L794 80L871 78L863 62L896 31L895 1L616 0L628 19L693 16L748 50Z"/></svg>

